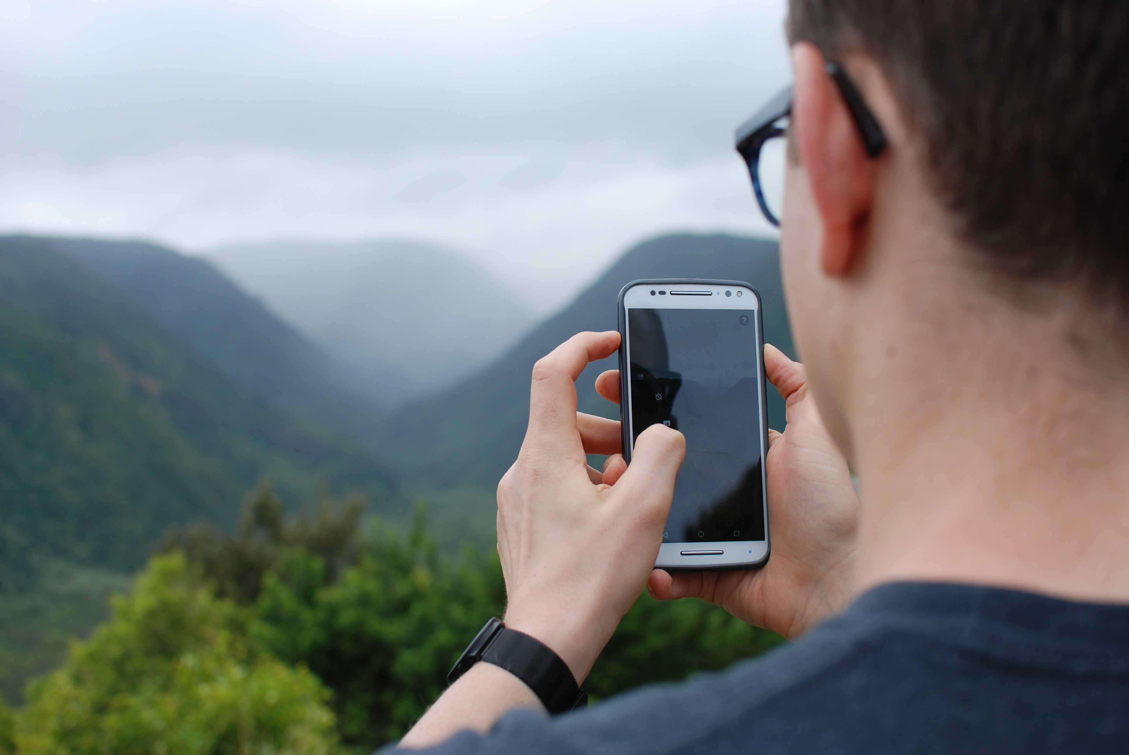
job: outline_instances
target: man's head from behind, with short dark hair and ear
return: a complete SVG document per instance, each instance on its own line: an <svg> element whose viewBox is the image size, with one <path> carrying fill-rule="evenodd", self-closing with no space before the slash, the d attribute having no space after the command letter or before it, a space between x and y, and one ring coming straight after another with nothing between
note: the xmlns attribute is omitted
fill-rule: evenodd
<svg viewBox="0 0 1129 755"><path fill-rule="evenodd" d="M903 325L959 350L972 321L1042 323L1108 357L1093 342L1129 331L1129 3L791 0L788 33L785 278L844 450L854 367L898 354ZM890 137L877 160L824 59Z"/></svg>

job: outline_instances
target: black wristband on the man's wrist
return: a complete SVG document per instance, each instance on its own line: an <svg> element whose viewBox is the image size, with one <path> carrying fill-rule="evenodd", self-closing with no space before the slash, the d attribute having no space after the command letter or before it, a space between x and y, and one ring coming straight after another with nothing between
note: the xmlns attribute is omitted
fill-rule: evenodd
<svg viewBox="0 0 1129 755"><path fill-rule="evenodd" d="M550 713L564 713L588 704L588 693L576 683L568 664L540 640L506 629L491 618L450 669L447 681L465 674L479 660L504 668L533 690Z"/></svg>

